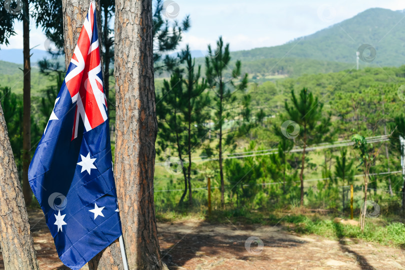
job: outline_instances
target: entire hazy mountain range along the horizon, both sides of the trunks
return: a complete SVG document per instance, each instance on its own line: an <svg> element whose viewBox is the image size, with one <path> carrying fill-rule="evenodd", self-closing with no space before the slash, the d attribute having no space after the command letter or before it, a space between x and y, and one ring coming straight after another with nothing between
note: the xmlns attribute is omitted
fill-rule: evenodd
<svg viewBox="0 0 405 270"><path fill-rule="evenodd" d="M375 59L359 61L364 66L400 66L405 64L405 13L384 8L370 8L311 35L283 45L231 52L232 60L242 61L242 71L254 78L299 76L354 68L356 51L363 44L375 48ZM50 55L32 49L31 62ZM177 53L171 53L175 56ZM205 51L192 50L192 57L204 66ZM364 50L367 57L369 50ZM0 50L0 60L22 64L22 49ZM63 57L59 59L63 63ZM111 63L110 68L113 68ZM164 73L160 76L168 76ZM254 79L253 78L253 79Z"/></svg>

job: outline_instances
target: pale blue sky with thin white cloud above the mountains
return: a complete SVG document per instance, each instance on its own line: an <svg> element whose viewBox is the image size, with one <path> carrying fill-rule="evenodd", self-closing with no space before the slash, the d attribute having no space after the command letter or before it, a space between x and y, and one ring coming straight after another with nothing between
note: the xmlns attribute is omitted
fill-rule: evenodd
<svg viewBox="0 0 405 270"><path fill-rule="evenodd" d="M403 0L174 0L167 12L176 19L190 14L191 28L184 33L192 50L204 51L219 35L231 50L283 44L350 18L371 7L405 9ZM177 12L178 11L178 12ZM22 48L22 24L15 24L17 35L8 47ZM46 37L31 23L31 46L44 49Z"/></svg>

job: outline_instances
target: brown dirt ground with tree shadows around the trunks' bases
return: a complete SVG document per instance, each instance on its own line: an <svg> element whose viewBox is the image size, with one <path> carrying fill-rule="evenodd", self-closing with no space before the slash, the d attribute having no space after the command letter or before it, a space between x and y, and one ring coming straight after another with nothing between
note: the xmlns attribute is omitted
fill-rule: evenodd
<svg viewBox="0 0 405 270"><path fill-rule="evenodd" d="M29 221L39 268L68 270L57 257L42 212L30 211ZM158 223L157 229L163 261L170 270L405 270L404 250L350 239L298 236L279 227L189 220ZM245 247L249 237L259 240ZM257 243L262 243L262 249ZM2 263L0 256L0 269L4 269Z"/></svg>

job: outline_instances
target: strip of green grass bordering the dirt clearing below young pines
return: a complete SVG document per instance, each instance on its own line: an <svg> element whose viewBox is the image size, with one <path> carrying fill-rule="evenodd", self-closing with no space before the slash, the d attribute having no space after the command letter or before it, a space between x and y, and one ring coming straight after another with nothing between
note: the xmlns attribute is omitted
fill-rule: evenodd
<svg viewBox="0 0 405 270"><path fill-rule="evenodd" d="M349 238L353 242L365 241L383 246L405 248L405 225L399 222L387 222L387 219L366 219L364 232L358 226L333 222L332 215L319 216L311 214L285 214L276 211L263 213L246 208L216 210L207 216L205 208L194 207L192 210L179 209L156 211L160 222L181 222L201 219L211 224L261 224L278 226L288 232L299 235L318 235L333 240Z"/></svg>

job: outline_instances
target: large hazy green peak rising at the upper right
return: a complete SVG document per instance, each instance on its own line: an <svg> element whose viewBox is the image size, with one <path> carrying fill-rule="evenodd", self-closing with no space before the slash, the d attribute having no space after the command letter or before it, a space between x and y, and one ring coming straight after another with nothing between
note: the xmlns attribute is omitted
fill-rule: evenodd
<svg viewBox="0 0 405 270"><path fill-rule="evenodd" d="M353 63L362 44L375 48L377 66L405 64L405 14L383 8L367 9L350 19L286 44L232 52L233 59L252 61L267 58L310 58L319 61ZM369 55L369 50L364 51ZM360 65L366 63L360 61Z"/></svg>

